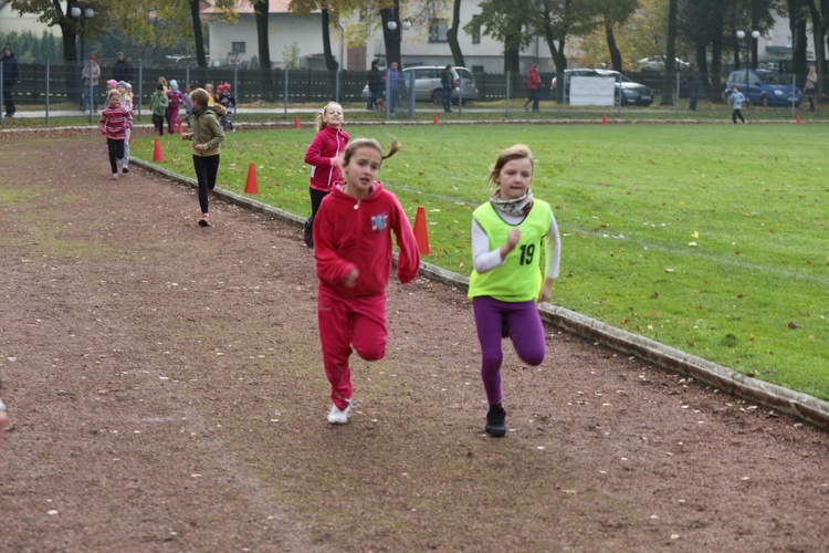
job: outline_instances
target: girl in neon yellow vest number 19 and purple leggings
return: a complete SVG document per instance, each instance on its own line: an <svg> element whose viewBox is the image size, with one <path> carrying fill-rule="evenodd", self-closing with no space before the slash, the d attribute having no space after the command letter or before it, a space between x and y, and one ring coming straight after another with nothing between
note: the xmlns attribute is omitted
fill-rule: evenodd
<svg viewBox="0 0 829 553"><path fill-rule="evenodd" d="M490 410L485 432L506 434L502 405L501 338L510 337L524 363L541 365L546 353L536 302L549 300L562 247L553 209L533 198L533 153L517 144L501 153L490 174L497 186L472 213L472 276L469 296L481 342L481 378Z"/></svg>

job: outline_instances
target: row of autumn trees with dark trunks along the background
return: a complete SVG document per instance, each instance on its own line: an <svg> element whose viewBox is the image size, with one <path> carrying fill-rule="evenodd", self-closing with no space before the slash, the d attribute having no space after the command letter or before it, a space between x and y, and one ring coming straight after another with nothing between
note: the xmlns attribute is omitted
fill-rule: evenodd
<svg viewBox="0 0 829 553"><path fill-rule="evenodd" d="M329 71L337 69L330 44L332 27L344 27L348 45L365 44L379 27L387 60L399 62L401 29L389 25L390 22L408 20L428 27L434 19L443 19L448 22L447 38L455 65L465 65L459 41L461 32L481 33L502 43L504 71L513 73L521 71L521 53L536 40L543 40L559 79L567 69L566 52L578 41L579 49L590 45L598 49L597 44L601 44L608 65L617 71L626 69L626 49L630 52L648 49L663 60L665 79L675 74L680 53L693 60L702 73L718 80L723 60L731 58L739 67L743 50L748 52L751 66L756 67L757 41L751 39L751 31L767 33L775 17L784 15L789 19L793 36L790 70L797 74L807 73L806 31L814 30L812 48L822 93L829 0L478 0L480 12L472 21L462 22L461 2L471 1L292 0L290 11L296 17L322 13L321 41ZM65 4L53 0L12 0L11 4L14 10L38 14L41 22L61 29L66 61L77 60L75 44L82 31L90 38L114 28L138 44L171 45L183 38L195 49L198 65L207 66L200 0L69 0ZM270 3L246 0L242 4L253 10L259 66L267 70L272 66ZM238 8L242 4L235 0L214 0L211 17L238 21ZM87 21L73 17L73 8L82 7L93 7L97 15ZM737 30L747 31L749 38L741 42ZM628 63L629 60L628 56ZM671 102L670 96L662 98L663 104Z"/></svg>

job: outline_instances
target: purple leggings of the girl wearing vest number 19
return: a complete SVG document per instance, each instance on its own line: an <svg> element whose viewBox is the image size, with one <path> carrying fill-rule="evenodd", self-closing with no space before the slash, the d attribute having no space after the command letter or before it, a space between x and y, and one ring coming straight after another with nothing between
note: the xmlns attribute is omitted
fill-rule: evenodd
<svg viewBox="0 0 829 553"><path fill-rule="evenodd" d="M544 325L534 301L510 303L489 296L472 300L475 314L478 340L481 342L481 378L483 379L486 399L490 405L500 404L501 363L504 353L501 349L502 321L510 325L510 338L521 361L537 366L544 361L546 341Z"/></svg>

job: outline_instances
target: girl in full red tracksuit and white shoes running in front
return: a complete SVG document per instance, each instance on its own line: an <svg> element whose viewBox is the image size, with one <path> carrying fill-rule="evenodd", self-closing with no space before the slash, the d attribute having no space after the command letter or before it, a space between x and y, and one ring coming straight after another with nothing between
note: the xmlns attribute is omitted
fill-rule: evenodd
<svg viewBox="0 0 829 553"><path fill-rule="evenodd" d="M397 276L410 282L420 269L414 233L397 197L376 180L387 156L377 140L359 138L343 157L345 184L326 196L314 222L317 319L325 374L334 404L328 422L344 425L351 411L351 348L366 361L386 354L386 286L391 271L391 231L399 255Z"/></svg>

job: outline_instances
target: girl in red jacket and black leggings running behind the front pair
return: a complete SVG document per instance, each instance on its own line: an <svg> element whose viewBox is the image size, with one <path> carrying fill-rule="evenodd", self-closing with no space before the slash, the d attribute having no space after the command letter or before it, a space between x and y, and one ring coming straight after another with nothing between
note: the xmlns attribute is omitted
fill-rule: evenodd
<svg viewBox="0 0 829 553"><path fill-rule="evenodd" d="M328 102L316 114L316 136L305 152L305 163L311 165L311 217L305 221L305 246L314 247L314 216L332 187L343 181L343 153L348 144L348 133L343 131L343 106Z"/></svg>

